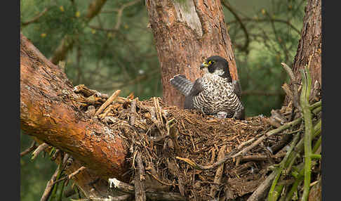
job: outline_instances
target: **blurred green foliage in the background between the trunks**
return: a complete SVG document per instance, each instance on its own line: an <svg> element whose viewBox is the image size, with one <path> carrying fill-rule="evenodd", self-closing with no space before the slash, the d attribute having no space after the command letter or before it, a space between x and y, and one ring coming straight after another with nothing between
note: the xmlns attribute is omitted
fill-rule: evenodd
<svg viewBox="0 0 341 201"><path fill-rule="evenodd" d="M47 58L61 41L74 41L65 58L65 72L74 85L108 93L121 89L140 100L162 96L159 60L148 28L145 1L107 1L90 21L90 0L21 0L22 33ZM292 65L306 1L225 0L225 22L243 89L246 115L269 115L283 103L281 85L288 76L281 62ZM37 17L39 16L39 17ZM22 135L21 149L30 144ZM21 159L21 198L39 200L56 165L29 155Z"/></svg>

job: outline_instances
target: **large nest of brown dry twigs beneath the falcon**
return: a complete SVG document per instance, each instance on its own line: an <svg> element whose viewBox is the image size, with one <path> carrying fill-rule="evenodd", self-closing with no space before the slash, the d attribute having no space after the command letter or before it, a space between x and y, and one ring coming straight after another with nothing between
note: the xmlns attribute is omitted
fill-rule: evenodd
<svg viewBox="0 0 341 201"><path fill-rule="evenodd" d="M112 98L85 86L76 89L83 103L81 110L87 110L90 116ZM135 157L140 153L146 173L143 178L146 190L179 192L189 200L245 197L265 180L267 167L280 162L284 156L285 151L281 148L277 149L276 155L270 149L282 138L276 135L250 149L247 155L230 158L218 168L195 169L179 157L196 164L213 164L273 129L271 121L262 116L245 120L218 119L194 110L168 107L160 98L140 101L133 99L133 95L115 96L95 118L126 139L133 174Z"/></svg>

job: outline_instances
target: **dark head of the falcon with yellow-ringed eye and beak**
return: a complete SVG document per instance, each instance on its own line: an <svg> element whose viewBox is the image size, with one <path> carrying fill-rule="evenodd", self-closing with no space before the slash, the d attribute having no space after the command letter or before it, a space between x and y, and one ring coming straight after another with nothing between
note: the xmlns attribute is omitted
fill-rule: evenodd
<svg viewBox="0 0 341 201"><path fill-rule="evenodd" d="M229 63L225 58L221 56L210 56L200 65L200 69L207 68L208 72L217 74L220 77L229 78L232 80L231 74L229 74Z"/></svg>

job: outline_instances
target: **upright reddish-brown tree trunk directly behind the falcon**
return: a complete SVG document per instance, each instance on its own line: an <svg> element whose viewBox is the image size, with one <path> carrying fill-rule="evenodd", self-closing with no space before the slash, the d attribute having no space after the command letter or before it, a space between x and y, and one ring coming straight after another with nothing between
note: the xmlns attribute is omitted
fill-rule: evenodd
<svg viewBox="0 0 341 201"><path fill-rule="evenodd" d="M183 108L185 97L169 79L185 74L193 82L200 77L200 63L209 56L226 58L232 79L238 79L220 0L146 0L146 7L161 65L165 103Z"/></svg>

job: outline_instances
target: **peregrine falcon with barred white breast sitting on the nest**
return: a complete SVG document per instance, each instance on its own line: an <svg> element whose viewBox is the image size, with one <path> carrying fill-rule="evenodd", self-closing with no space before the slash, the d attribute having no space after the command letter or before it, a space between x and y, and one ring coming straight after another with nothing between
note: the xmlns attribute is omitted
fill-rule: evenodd
<svg viewBox="0 0 341 201"><path fill-rule="evenodd" d="M210 56L200 65L200 69L205 70L205 74L194 83L180 74L170 79L170 84L185 95L185 109L196 109L206 115L244 119L241 87L238 81L232 81L227 60Z"/></svg>

